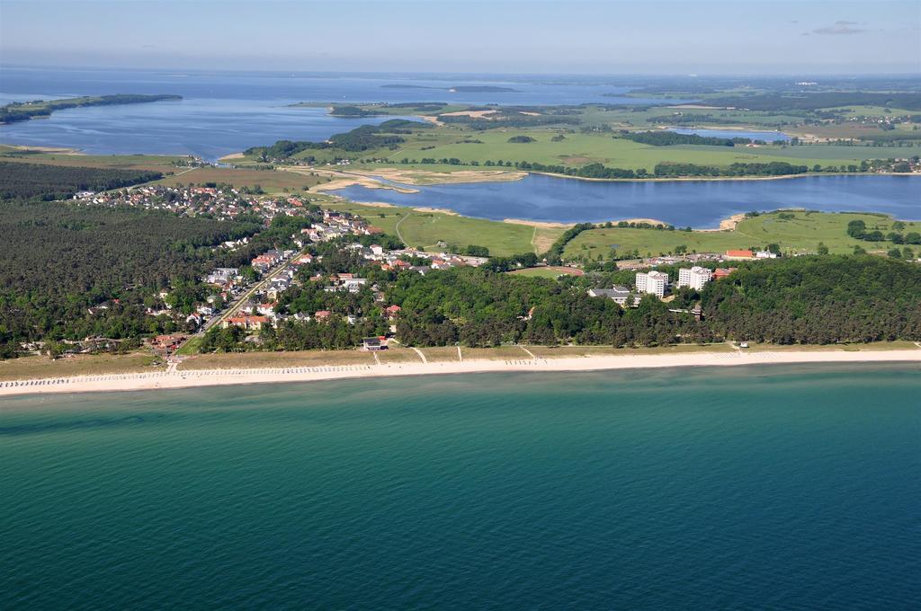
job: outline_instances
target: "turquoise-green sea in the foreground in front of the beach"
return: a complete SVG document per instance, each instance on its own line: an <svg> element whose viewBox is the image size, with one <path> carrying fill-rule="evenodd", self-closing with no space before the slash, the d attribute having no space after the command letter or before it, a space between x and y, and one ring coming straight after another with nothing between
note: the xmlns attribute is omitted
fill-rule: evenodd
<svg viewBox="0 0 921 611"><path fill-rule="evenodd" d="M921 370L0 402L0 607L911 608Z"/></svg>

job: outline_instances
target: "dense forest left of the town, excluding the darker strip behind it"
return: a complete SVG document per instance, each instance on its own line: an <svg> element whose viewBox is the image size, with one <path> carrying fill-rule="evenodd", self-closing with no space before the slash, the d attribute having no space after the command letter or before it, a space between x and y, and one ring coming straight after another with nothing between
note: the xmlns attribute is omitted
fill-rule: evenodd
<svg viewBox="0 0 921 611"><path fill-rule="evenodd" d="M157 291L197 290L207 267L247 256L221 259L216 244L261 229L248 221L60 202L0 202L0 211L0 357L15 356L23 341L136 341L174 330L145 314ZM250 246L259 248L252 242L261 237Z"/></svg>

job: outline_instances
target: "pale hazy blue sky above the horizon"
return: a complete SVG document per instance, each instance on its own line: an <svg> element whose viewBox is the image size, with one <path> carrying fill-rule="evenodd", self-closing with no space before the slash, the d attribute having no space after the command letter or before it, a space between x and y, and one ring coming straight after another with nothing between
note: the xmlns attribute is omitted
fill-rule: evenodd
<svg viewBox="0 0 921 611"><path fill-rule="evenodd" d="M316 72L921 74L921 1L0 0L0 63Z"/></svg>

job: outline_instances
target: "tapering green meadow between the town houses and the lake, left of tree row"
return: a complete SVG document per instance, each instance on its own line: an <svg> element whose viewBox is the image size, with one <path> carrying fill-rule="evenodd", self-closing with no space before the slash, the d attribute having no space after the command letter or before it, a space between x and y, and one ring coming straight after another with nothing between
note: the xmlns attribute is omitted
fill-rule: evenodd
<svg viewBox="0 0 921 611"><path fill-rule="evenodd" d="M416 211L412 208L377 207L341 200L322 200L321 205L334 210L359 214L371 225L386 233L400 236L408 246L438 249L444 241L464 247L471 244L489 248L500 257L523 252L544 252L563 229L533 227L514 223L486 221L457 214Z"/></svg>

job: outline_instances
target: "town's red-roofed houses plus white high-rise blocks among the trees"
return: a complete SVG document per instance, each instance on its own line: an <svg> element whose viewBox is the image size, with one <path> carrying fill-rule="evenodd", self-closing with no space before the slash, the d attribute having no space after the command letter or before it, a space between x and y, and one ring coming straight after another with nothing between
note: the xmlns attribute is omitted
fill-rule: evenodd
<svg viewBox="0 0 921 611"><path fill-rule="evenodd" d="M311 254L309 245L334 243L349 256L364 261L381 271L414 271L426 274L432 270L453 267L483 265L488 258L451 254L448 252L427 252L414 248L385 248L374 243L373 237L382 230L351 213L319 209L303 196L282 198L260 197L245 190L229 186L177 186L146 185L127 190L110 192L80 192L75 196L79 205L134 206L152 210L164 210L188 216L207 215L216 219L237 219L240 214L258 215L263 223L271 223L278 215L303 216L309 210L316 220L309 226L292 234L287 242L290 248L269 248L251 259L249 269L239 267L217 267L201 278L208 287L208 294L201 303L194 305L192 312L179 312L170 305L169 291L158 296L161 305L149 307L152 317L166 316L177 322L177 332L158 335L149 340L149 345L164 356L170 356L193 336L203 336L212 328L239 329L258 343L262 329L278 329L286 320L296 322L329 323L333 320L356 325L365 318L364 312L333 313L330 309L314 311L290 311L279 307L279 298L292 287L304 282L322 282L322 290L330 294L357 294L369 291L374 303L379 305L387 329L383 334L364 338L362 348L371 351L386 349L388 340L396 331L395 320L400 306L388 304L385 288L379 282L372 282L350 271L332 273L315 272L305 275L301 271L311 269L320 262L323 255ZM353 239L354 238L354 239ZM358 239L364 238L364 239ZM216 248L233 251L250 244L251 237L224 242ZM663 301L669 301L674 289L690 287L696 291L707 282L728 276L735 268L717 267L711 270L701 264L733 260L773 259L777 255L767 250L729 250L725 253L687 253L667 257L654 257L629 261L618 261L619 270L635 270L635 286L614 285L611 288L591 288L589 296L610 298L623 307L635 307L643 295L652 294ZM655 268L662 265L691 263L693 267L682 268L677 278ZM105 308L106 305L99 305ZM699 317L695 310L688 312ZM111 348L104 338L87 338L75 342L75 352L93 352L100 346ZM101 344L100 344L101 342Z"/></svg>

